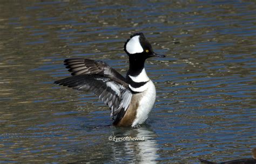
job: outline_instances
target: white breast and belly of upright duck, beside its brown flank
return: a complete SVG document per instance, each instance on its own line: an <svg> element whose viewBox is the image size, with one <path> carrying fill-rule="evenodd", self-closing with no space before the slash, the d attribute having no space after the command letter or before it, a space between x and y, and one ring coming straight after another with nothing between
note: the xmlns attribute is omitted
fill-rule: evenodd
<svg viewBox="0 0 256 164"><path fill-rule="evenodd" d="M140 101L132 127L138 124L143 124L147 117L149 117L149 113L156 101L156 88L154 87L154 83L151 80L147 82L147 89L136 96L140 97Z"/></svg>

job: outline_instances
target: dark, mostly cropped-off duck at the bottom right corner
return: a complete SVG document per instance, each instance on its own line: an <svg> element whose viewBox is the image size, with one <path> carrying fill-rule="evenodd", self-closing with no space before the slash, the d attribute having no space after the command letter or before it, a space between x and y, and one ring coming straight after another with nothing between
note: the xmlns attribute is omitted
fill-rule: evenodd
<svg viewBox="0 0 256 164"><path fill-rule="evenodd" d="M252 158L244 158L244 159L238 159L238 160L232 160L232 161L226 161L226 162L210 162L206 160L199 159L201 163L207 163L207 164L255 164L256 163L256 148L252 150Z"/></svg>

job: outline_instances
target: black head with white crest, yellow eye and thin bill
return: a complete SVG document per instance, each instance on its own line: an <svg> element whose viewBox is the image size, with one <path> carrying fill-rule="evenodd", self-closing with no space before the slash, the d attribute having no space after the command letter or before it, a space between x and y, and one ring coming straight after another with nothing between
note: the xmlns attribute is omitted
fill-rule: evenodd
<svg viewBox="0 0 256 164"><path fill-rule="evenodd" d="M144 61L151 57L165 57L165 55L159 55L153 52L150 42L142 32L131 35L130 39L124 44L124 51L130 58L142 59Z"/></svg>

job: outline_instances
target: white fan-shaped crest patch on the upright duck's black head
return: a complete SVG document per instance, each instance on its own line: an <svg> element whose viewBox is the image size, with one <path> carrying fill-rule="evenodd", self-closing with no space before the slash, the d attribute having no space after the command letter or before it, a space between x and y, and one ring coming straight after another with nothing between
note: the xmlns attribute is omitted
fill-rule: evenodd
<svg viewBox="0 0 256 164"><path fill-rule="evenodd" d="M136 54L136 53L142 53L143 52L143 48L142 45L140 45L139 42L139 35L136 35L134 37L132 37L126 44L126 51L129 54Z"/></svg>

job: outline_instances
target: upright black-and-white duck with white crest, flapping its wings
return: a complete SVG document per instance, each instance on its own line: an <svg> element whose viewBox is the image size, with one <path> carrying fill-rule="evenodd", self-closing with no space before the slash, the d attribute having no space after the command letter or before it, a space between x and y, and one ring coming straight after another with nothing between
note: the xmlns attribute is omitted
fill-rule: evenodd
<svg viewBox="0 0 256 164"><path fill-rule="evenodd" d="M145 72L145 60L165 55L154 53L143 33L131 35L124 51L130 62L126 77L103 61L66 59L64 65L72 76L55 84L92 91L109 106L113 125L134 127L145 122L156 101L156 88Z"/></svg>

